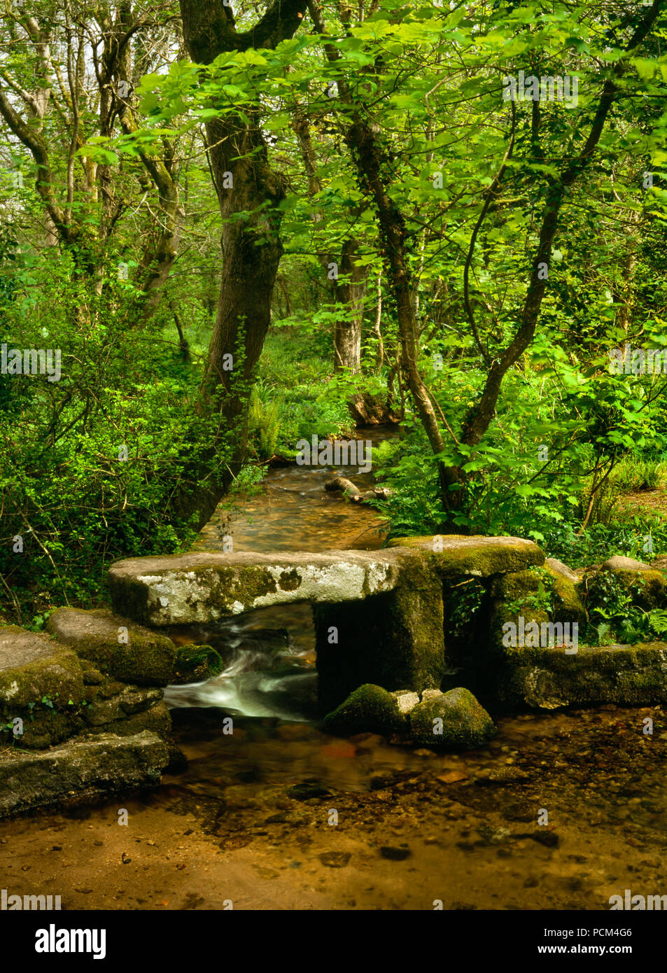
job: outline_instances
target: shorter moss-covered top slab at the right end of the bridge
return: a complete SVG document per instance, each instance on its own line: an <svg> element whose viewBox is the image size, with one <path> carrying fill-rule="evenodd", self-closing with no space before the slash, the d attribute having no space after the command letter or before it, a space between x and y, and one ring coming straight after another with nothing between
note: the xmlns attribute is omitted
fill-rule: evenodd
<svg viewBox="0 0 667 973"><path fill-rule="evenodd" d="M462 534L430 534L395 537L387 548L417 548L431 552L429 565L443 581L474 576L487 578L544 564L544 551L521 537L471 537Z"/></svg>

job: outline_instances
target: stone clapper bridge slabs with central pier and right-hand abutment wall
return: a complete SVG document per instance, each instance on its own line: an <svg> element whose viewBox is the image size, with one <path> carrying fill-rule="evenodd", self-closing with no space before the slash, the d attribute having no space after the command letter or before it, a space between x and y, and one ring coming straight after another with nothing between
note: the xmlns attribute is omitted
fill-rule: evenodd
<svg viewBox="0 0 667 973"><path fill-rule="evenodd" d="M152 629L309 602L323 712L367 683L390 692L466 686L496 710L667 701L664 643L576 654L557 645L503 646L499 631L515 601L508 593L522 579L530 589L531 568L554 577L560 620L585 617L572 575L550 566L558 563L545 564L544 552L518 537L446 535L402 538L371 552L124 559L111 566L109 583L115 612ZM459 625L456 637L445 637L452 596L473 579L481 583L483 610L468 628L464 620L463 635Z"/></svg>

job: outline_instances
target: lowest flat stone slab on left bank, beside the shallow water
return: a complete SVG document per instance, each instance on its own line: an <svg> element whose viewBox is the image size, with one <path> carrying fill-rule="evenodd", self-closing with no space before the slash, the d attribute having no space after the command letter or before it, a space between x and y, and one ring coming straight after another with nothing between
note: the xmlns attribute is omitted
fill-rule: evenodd
<svg viewBox="0 0 667 973"><path fill-rule="evenodd" d="M145 730L71 739L37 753L0 756L0 817L154 786L169 760L167 745Z"/></svg>

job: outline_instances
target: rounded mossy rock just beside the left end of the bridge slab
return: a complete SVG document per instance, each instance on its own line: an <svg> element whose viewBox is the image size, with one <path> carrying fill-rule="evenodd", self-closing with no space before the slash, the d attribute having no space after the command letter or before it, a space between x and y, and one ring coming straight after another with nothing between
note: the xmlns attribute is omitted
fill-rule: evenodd
<svg viewBox="0 0 667 973"><path fill-rule="evenodd" d="M123 682L166 686L171 680L176 657L171 639L105 608L56 608L47 628L78 656Z"/></svg>

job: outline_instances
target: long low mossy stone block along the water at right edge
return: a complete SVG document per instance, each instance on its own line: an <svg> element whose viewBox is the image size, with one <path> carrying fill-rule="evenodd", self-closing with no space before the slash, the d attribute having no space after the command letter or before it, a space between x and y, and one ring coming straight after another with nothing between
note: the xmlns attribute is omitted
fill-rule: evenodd
<svg viewBox="0 0 667 973"><path fill-rule="evenodd" d="M524 648L498 672L498 699L508 710L667 702L667 643Z"/></svg>

